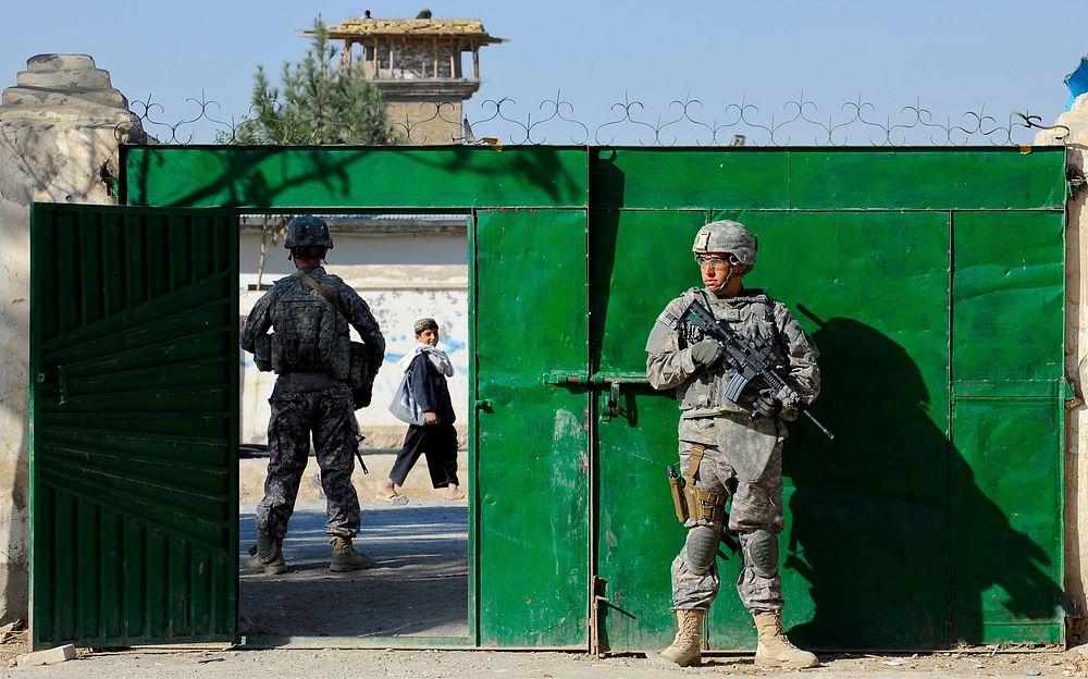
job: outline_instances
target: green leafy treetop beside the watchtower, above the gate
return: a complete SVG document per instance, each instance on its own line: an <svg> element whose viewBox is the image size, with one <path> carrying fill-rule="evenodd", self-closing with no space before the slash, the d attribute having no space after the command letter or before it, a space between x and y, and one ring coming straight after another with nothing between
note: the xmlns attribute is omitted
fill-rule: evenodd
<svg viewBox="0 0 1088 679"><path fill-rule="evenodd" d="M337 50L319 15L313 41L296 64L284 62L282 91L257 66L250 99L252 118L220 141L237 144L321 145L391 144L385 107L378 88L350 62L334 64Z"/></svg>

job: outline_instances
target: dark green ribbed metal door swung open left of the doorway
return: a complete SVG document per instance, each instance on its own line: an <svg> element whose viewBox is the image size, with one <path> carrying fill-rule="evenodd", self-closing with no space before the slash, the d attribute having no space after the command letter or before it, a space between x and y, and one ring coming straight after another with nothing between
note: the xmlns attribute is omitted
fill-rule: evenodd
<svg viewBox="0 0 1088 679"><path fill-rule="evenodd" d="M35 205L35 647L237 634L237 218Z"/></svg>

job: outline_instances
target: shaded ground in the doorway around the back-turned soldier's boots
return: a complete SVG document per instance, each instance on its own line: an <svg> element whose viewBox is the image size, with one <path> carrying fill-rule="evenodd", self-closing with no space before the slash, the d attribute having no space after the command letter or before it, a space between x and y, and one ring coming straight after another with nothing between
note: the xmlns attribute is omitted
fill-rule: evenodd
<svg viewBox="0 0 1088 679"><path fill-rule="evenodd" d="M251 637L468 637L465 503L362 504L356 548L378 567L329 571L324 503L296 507L280 576L251 575L251 507L240 517L240 633Z"/></svg>

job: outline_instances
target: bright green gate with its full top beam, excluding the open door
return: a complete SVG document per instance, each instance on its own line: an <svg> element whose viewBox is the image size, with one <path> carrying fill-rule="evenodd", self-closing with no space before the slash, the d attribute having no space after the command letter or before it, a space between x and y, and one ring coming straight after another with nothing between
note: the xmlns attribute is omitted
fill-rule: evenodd
<svg viewBox="0 0 1088 679"><path fill-rule="evenodd" d="M791 637L1062 641L1063 149L148 147L124 166L134 206L475 215L477 645L671 638L678 411L643 346L720 217L759 236L749 282L815 337L838 434L787 444ZM751 647L720 565L709 642Z"/></svg>

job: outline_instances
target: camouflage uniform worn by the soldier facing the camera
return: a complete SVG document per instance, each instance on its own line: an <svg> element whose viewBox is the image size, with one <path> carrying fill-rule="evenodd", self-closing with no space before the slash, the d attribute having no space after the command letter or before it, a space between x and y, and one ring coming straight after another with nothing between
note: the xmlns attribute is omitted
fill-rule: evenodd
<svg viewBox="0 0 1088 679"><path fill-rule="evenodd" d="M769 547L774 550L774 571L753 567L745 558L737 582L741 601L750 610L780 610L783 602L777 535L782 531L782 442L788 435L784 420L795 418L796 411L787 408L776 418L753 421L749 412L759 391L767 387L759 378L747 385L740 404L725 397L726 385L735 374L729 361L706 371L692 360L690 347L704 338L701 330L682 318L693 299L716 318L728 321L734 332L772 342L789 381L805 404L819 391L816 347L790 311L759 291L744 289L735 297L718 299L694 287L665 307L655 330L657 338L652 334L646 347L650 383L658 390L677 388L681 476L688 476L693 449L702 448L695 487L732 495L728 528L739 533L742 553L750 554L753 534L769 531L774 535ZM662 326L667 330L665 334ZM687 527L701 522L706 523L689 519ZM706 610L720 587L717 564L695 575L688 567L687 553L684 545L672 563L673 609Z"/></svg>

